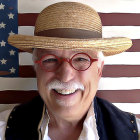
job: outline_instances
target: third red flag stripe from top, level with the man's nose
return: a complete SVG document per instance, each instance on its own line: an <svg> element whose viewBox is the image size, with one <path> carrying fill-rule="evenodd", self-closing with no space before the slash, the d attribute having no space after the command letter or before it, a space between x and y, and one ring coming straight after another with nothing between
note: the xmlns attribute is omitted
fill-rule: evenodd
<svg viewBox="0 0 140 140"><path fill-rule="evenodd" d="M19 67L19 77L33 78L35 76L33 66ZM140 65L105 65L102 77L140 77Z"/></svg>

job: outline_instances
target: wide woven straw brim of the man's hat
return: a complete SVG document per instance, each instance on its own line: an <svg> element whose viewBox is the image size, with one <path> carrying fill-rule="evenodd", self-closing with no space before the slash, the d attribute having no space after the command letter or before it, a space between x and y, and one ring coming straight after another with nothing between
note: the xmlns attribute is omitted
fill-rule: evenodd
<svg viewBox="0 0 140 140"><path fill-rule="evenodd" d="M32 53L34 48L63 50L97 50L105 56L126 51L132 41L125 37L73 39L44 36L11 35L8 43L18 49Z"/></svg>

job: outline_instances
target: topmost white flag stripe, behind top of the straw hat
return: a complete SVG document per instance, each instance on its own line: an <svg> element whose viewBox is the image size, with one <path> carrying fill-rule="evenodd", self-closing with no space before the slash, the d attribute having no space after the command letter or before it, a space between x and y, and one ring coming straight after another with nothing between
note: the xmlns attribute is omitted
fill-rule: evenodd
<svg viewBox="0 0 140 140"><path fill-rule="evenodd" d="M85 3L103 13L140 13L139 0L18 0L18 11L19 13L39 13L48 5L62 1Z"/></svg>

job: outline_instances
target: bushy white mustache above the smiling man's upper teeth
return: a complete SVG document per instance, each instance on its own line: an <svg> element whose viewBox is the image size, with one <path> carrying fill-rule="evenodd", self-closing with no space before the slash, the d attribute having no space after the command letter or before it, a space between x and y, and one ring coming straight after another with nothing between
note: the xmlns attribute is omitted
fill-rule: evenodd
<svg viewBox="0 0 140 140"><path fill-rule="evenodd" d="M49 90L52 90L52 89L67 89L67 90L81 89L81 90L84 90L84 85L80 82L63 83L59 80L53 80L48 84L48 89Z"/></svg>

